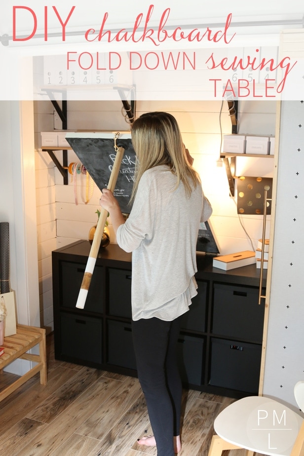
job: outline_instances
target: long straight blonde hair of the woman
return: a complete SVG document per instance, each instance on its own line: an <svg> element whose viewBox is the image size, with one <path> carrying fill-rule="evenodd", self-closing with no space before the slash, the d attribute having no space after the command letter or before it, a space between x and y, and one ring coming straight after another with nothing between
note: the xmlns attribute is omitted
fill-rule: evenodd
<svg viewBox="0 0 304 456"><path fill-rule="evenodd" d="M188 162L175 117L164 112L142 114L133 123L131 134L137 155L131 200L136 194L144 172L158 165L168 165L171 172L177 176L176 188L182 182L187 194L190 195L193 187L200 183L200 179Z"/></svg>

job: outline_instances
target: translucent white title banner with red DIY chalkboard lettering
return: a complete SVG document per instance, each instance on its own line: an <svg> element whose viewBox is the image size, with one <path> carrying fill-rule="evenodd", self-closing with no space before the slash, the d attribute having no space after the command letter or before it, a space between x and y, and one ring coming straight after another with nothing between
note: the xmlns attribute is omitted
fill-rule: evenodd
<svg viewBox="0 0 304 456"><path fill-rule="evenodd" d="M223 3L222 7L220 3ZM258 2L14 1L1 5L0 99L295 100L303 11ZM300 95L301 96L301 95Z"/></svg>

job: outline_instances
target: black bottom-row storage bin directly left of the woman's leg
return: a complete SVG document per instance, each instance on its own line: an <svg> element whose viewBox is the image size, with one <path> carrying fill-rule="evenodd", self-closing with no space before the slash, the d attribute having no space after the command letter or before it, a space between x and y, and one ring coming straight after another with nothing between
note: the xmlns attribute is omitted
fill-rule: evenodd
<svg viewBox="0 0 304 456"><path fill-rule="evenodd" d="M108 363L136 369L130 323L108 320Z"/></svg>

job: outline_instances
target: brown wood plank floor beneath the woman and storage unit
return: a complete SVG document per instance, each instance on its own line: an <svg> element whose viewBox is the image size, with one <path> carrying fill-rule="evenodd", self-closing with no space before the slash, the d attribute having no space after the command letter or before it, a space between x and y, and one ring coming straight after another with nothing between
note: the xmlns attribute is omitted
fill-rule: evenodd
<svg viewBox="0 0 304 456"><path fill-rule="evenodd" d="M137 445L151 434L137 379L54 359L47 336L48 382L39 374L0 403L0 456L156 456ZM0 375L0 388L15 380ZM213 421L233 399L184 391L180 456L207 456ZM244 456L245 451L225 452Z"/></svg>

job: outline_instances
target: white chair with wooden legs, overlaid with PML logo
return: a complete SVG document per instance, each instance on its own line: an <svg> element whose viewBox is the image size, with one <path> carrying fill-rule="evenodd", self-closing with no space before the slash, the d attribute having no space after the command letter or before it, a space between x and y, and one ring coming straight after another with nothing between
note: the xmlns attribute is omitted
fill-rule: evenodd
<svg viewBox="0 0 304 456"><path fill-rule="evenodd" d="M304 381L294 394L304 411ZM247 456L304 456L304 419L290 408L267 397L250 396L233 402L214 421L208 456L224 450L246 449Z"/></svg>

